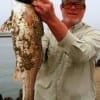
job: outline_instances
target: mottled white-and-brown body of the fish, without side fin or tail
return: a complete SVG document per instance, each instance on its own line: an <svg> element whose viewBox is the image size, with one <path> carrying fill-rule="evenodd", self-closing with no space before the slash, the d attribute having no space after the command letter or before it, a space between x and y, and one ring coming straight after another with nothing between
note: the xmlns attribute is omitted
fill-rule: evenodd
<svg viewBox="0 0 100 100"><path fill-rule="evenodd" d="M43 26L29 4L13 1L12 34L17 70L33 68L41 61Z"/></svg>

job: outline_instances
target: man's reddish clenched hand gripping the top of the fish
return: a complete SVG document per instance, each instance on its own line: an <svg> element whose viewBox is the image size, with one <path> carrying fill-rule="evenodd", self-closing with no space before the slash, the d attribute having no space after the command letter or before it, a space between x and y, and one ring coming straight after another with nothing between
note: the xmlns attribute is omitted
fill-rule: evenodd
<svg viewBox="0 0 100 100"><path fill-rule="evenodd" d="M49 0L33 0L32 5L41 19L47 24L56 17L53 4Z"/></svg>

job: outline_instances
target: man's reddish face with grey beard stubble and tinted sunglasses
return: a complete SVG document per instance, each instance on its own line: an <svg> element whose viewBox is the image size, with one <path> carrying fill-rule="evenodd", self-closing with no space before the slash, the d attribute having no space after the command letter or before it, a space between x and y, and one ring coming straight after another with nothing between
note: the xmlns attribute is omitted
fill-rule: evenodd
<svg viewBox="0 0 100 100"><path fill-rule="evenodd" d="M67 24L76 24L84 16L84 0L65 0L61 5L63 21Z"/></svg>

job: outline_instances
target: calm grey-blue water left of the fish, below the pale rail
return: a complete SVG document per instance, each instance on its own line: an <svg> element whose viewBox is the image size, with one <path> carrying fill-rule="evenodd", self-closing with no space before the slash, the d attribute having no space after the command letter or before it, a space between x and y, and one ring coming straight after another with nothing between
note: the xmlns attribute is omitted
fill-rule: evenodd
<svg viewBox="0 0 100 100"><path fill-rule="evenodd" d="M0 93L15 100L21 88L20 81L13 81L15 55L11 37L0 37Z"/></svg>

